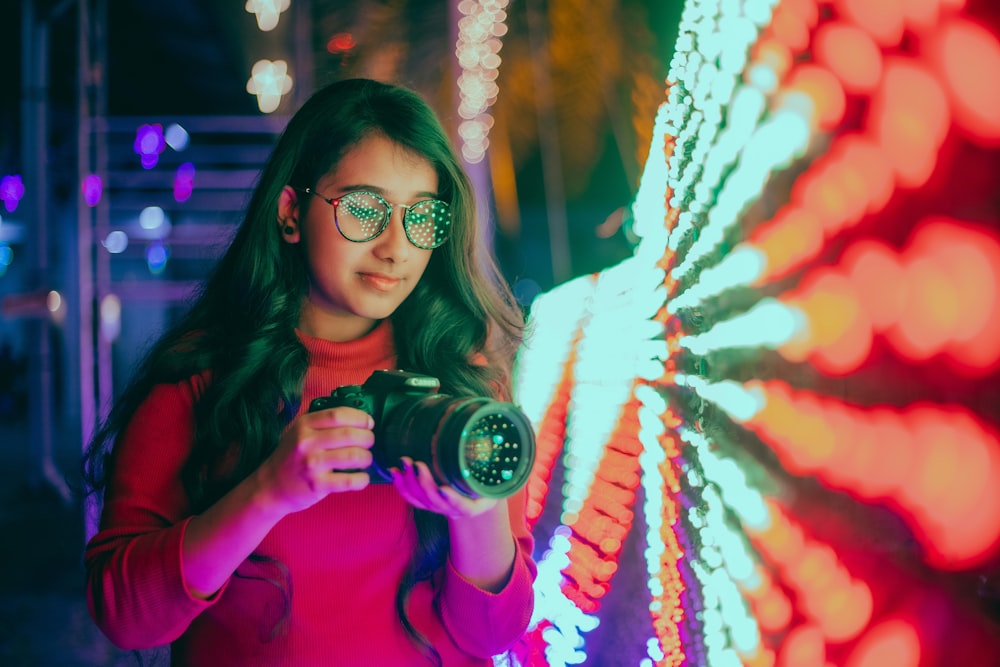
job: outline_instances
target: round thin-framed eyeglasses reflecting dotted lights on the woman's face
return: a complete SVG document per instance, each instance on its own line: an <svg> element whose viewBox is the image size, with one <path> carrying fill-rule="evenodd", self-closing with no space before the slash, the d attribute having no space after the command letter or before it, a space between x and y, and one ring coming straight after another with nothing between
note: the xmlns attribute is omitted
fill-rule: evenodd
<svg viewBox="0 0 1000 667"><path fill-rule="evenodd" d="M364 243L385 231L392 209L403 209L403 230L410 243L423 250L437 248L448 240L451 207L437 199L425 199L412 206L390 204L375 192L349 192L343 197L327 198L312 188L295 188L315 195L333 207L337 231L348 241Z"/></svg>

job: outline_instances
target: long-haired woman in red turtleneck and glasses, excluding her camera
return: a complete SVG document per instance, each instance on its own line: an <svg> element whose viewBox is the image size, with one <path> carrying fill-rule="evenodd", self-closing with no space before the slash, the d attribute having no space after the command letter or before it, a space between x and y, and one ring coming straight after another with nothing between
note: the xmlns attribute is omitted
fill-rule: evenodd
<svg viewBox="0 0 1000 667"><path fill-rule="evenodd" d="M308 411L378 369L509 395L523 323L475 210L412 92L343 81L295 114L88 450L88 600L115 644L212 667L471 666L519 638L523 494L470 498L409 459L369 485L372 418Z"/></svg>

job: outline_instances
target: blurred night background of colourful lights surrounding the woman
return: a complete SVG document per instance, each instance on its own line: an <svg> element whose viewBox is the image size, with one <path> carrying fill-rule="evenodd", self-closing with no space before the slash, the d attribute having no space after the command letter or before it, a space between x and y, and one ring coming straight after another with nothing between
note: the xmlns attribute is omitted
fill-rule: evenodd
<svg viewBox="0 0 1000 667"><path fill-rule="evenodd" d="M349 76L445 119L529 317L515 662L1000 664L995 3L7 7L3 664L135 664L83 606L81 442Z"/></svg>

